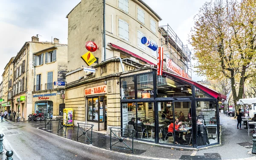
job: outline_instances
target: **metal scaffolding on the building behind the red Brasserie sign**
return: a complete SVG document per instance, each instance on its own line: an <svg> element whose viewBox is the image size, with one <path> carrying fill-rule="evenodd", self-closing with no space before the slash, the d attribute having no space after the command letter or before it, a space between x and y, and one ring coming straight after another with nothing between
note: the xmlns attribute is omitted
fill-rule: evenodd
<svg viewBox="0 0 256 160"><path fill-rule="evenodd" d="M160 41L161 46L164 48L164 55L172 59L172 61L183 69L191 78L191 51L188 46L183 44L169 24L166 26L159 26L158 30L161 32ZM164 65L164 67L166 67L166 65Z"/></svg>

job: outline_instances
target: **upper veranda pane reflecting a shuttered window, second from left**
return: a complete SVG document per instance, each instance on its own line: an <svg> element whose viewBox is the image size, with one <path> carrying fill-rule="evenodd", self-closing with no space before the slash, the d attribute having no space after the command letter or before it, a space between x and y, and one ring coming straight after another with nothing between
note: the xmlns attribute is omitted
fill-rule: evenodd
<svg viewBox="0 0 256 160"><path fill-rule="evenodd" d="M137 98L154 98L153 73L137 75Z"/></svg>

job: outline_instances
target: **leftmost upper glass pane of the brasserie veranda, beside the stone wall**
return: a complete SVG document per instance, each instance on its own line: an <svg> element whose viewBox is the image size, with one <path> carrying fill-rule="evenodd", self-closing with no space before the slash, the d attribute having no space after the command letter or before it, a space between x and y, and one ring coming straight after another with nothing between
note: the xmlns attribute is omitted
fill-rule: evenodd
<svg viewBox="0 0 256 160"><path fill-rule="evenodd" d="M134 76L122 78L121 80L121 96L122 99L134 99Z"/></svg>

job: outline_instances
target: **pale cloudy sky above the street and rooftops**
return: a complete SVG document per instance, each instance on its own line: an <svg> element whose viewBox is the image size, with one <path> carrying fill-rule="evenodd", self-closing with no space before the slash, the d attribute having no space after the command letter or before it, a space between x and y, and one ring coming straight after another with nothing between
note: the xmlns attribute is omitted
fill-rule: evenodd
<svg viewBox="0 0 256 160"><path fill-rule="evenodd" d="M1 0L0 1L0 81L4 67L17 55L26 41L39 35L39 41L60 39L67 44L67 14L81 0ZM194 25L193 17L209 0L143 0L163 20L159 25L172 27L177 36L188 44L189 33ZM189 49L193 52L192 47ZM192 65L195 61L192 61ZM193 68L192 68L193 70ZM205 77L192 73L192 80Z"/></svg>

